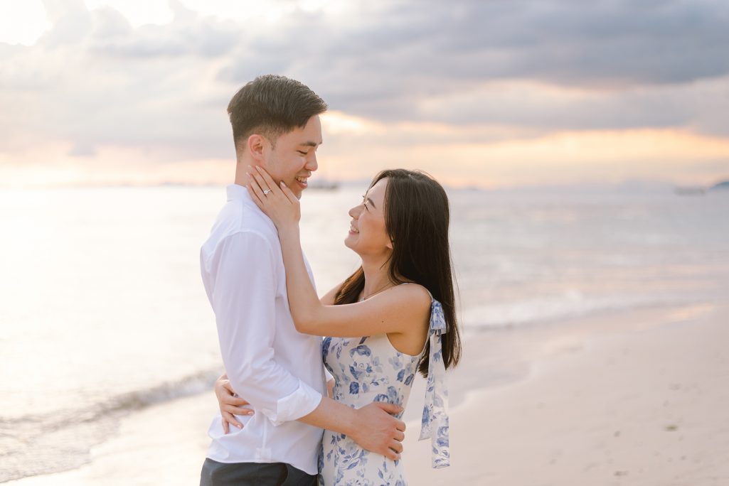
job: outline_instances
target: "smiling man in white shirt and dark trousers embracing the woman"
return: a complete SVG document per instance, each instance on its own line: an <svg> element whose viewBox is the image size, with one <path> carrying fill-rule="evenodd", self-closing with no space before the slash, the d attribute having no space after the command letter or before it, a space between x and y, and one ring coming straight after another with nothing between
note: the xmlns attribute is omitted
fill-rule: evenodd
<svg viewBox="0 0 729 486"><path fill-rule="evenodd" d="M405 424L389 415L400 407L351 409L325 396L321 338L295 330L276 227L244 187L246 168L260 165L300 197L317 168L326 109L305 85L272 75L243 86L228 106L235 184L200 249L200 270L230 385L255 413L230 434L213 420L200 485L315 485L323 428L392 459L402 452Z"/></svg>

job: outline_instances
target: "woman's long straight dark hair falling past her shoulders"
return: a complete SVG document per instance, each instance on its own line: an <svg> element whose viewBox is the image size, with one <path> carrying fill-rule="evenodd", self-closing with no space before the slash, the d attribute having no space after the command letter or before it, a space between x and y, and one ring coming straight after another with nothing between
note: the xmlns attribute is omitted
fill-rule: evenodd
<svg viewBox="0 0 729 486"><path fill-rule="evenodd" d="M405 169L378 173L370 187L385 178L383 212L392 241L390 281L419 283L443 305L448 324L448 332L443 334L443 362L446 368L453 367L461 358L461 336L456 322L451 246L448 243L448 196L427 173ZM335 295L335 305L356 302L363 289L364 272L359 267ZM418 364L418 371L423 376L428 374L429 354L430 340L427 340Z"/></svg>

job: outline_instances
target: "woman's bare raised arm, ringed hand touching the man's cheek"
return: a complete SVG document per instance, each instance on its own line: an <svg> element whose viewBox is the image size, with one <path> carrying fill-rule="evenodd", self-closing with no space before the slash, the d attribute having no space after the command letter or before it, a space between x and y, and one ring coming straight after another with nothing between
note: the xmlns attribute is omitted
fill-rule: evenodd
<svg viewBox="0 0 729 486"><path fill-rule="evenodd" d="M396 286L355 304L322 305L309 279L301 250L299 201L268 173L256 168L248 190L278 229L286 267L286 291L296 329L305 334L359 337L399 332L425 332L430 297L418 285ZM270 189L264 194L262 187ZM332 302L333 303L333 302ZM418 324L422 326L418 329Z"/></svg>

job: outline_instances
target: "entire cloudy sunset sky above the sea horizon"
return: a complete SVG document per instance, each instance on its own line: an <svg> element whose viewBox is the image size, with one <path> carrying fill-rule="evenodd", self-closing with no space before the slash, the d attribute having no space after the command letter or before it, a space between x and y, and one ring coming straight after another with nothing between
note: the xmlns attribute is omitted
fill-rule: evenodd
<svg viewBox="0 0 729 486"><path fill-rule="evenodd" d="M729 179L723 0L0 0L0 188L227 184L260 74L329 103L318 174Z"/></svg>

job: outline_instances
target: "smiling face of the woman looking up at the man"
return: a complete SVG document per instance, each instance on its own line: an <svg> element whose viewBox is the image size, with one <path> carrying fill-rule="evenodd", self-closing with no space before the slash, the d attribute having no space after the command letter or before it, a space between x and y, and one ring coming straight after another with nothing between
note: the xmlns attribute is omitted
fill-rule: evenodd
<svg viewBox="0 0 729 486"><path fill-rule="evenodd" d="M386 188L387 178L380 179L362 197L362 203L349 210L352 221L344 244L360 256L386 256L392 251L383 212Z"/></svg>

